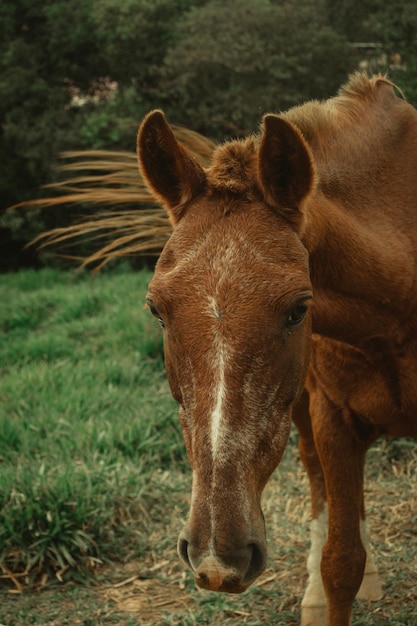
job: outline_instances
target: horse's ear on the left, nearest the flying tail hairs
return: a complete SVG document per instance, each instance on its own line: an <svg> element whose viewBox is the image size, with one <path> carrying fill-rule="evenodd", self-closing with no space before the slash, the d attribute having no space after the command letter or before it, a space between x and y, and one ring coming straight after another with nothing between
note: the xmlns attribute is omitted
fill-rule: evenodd
<svg viewBox="0 0 417 626"><path fill-rule="evenodd" d="M203 168L180 146L162 111L152 111L138 132L138 158L143 178L168 209L176 224L184 205L203 187Z"/></svg>

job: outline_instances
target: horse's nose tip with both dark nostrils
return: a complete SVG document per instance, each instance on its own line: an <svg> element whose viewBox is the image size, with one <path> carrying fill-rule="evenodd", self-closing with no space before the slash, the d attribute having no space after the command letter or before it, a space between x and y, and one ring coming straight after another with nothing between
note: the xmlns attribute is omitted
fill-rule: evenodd
<svg viewBox="0 0 417 626"><path fill-rule="evenodd" d="M192 557L188 541L180 538L178 552L194 573L195 581L202 589L242 593L263 572L266 553L262 546L249 544L238 554L228 555L227 563L215 554L203 558Z"/></svg>

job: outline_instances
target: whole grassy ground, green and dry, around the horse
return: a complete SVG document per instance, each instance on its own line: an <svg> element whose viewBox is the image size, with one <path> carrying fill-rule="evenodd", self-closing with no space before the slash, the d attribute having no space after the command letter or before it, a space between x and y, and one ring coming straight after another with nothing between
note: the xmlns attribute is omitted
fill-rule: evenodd
<svg viewBox="0 0 417 626"><path fill-rule="evenodd" d="M267 488L270 567L197 591L175 551L190 474L143 310L148 272L0 276L0 626L299 623L309 499L292 433ZM356 626L417 626L417 446L369 453L385 587Z"/></svg>

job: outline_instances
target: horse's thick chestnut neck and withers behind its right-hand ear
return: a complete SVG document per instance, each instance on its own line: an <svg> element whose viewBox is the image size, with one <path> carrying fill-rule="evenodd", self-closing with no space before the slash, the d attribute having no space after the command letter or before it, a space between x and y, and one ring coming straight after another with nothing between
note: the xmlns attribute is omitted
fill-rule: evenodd
<svg viewBox="0 0 417 626"><path fill-rule="evenodd" d="M370 85L359 76L341 99L289 115L309 142L319 180L304 233L313 330L361 343L386 337L393 326L410 329L417 307L416 110L386 81Z"/></svg>

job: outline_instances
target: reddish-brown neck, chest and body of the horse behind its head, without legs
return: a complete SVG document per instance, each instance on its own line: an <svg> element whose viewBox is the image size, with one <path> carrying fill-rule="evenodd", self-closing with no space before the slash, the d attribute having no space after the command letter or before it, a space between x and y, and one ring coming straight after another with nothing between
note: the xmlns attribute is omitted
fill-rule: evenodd
<svg viewBox="0 0 417 626"><path fill-rule="evenodd" d="M416 436L417 114L384 82L358 81L350 99L331 155L314 153L310 377L377 435Z"/></svg>

